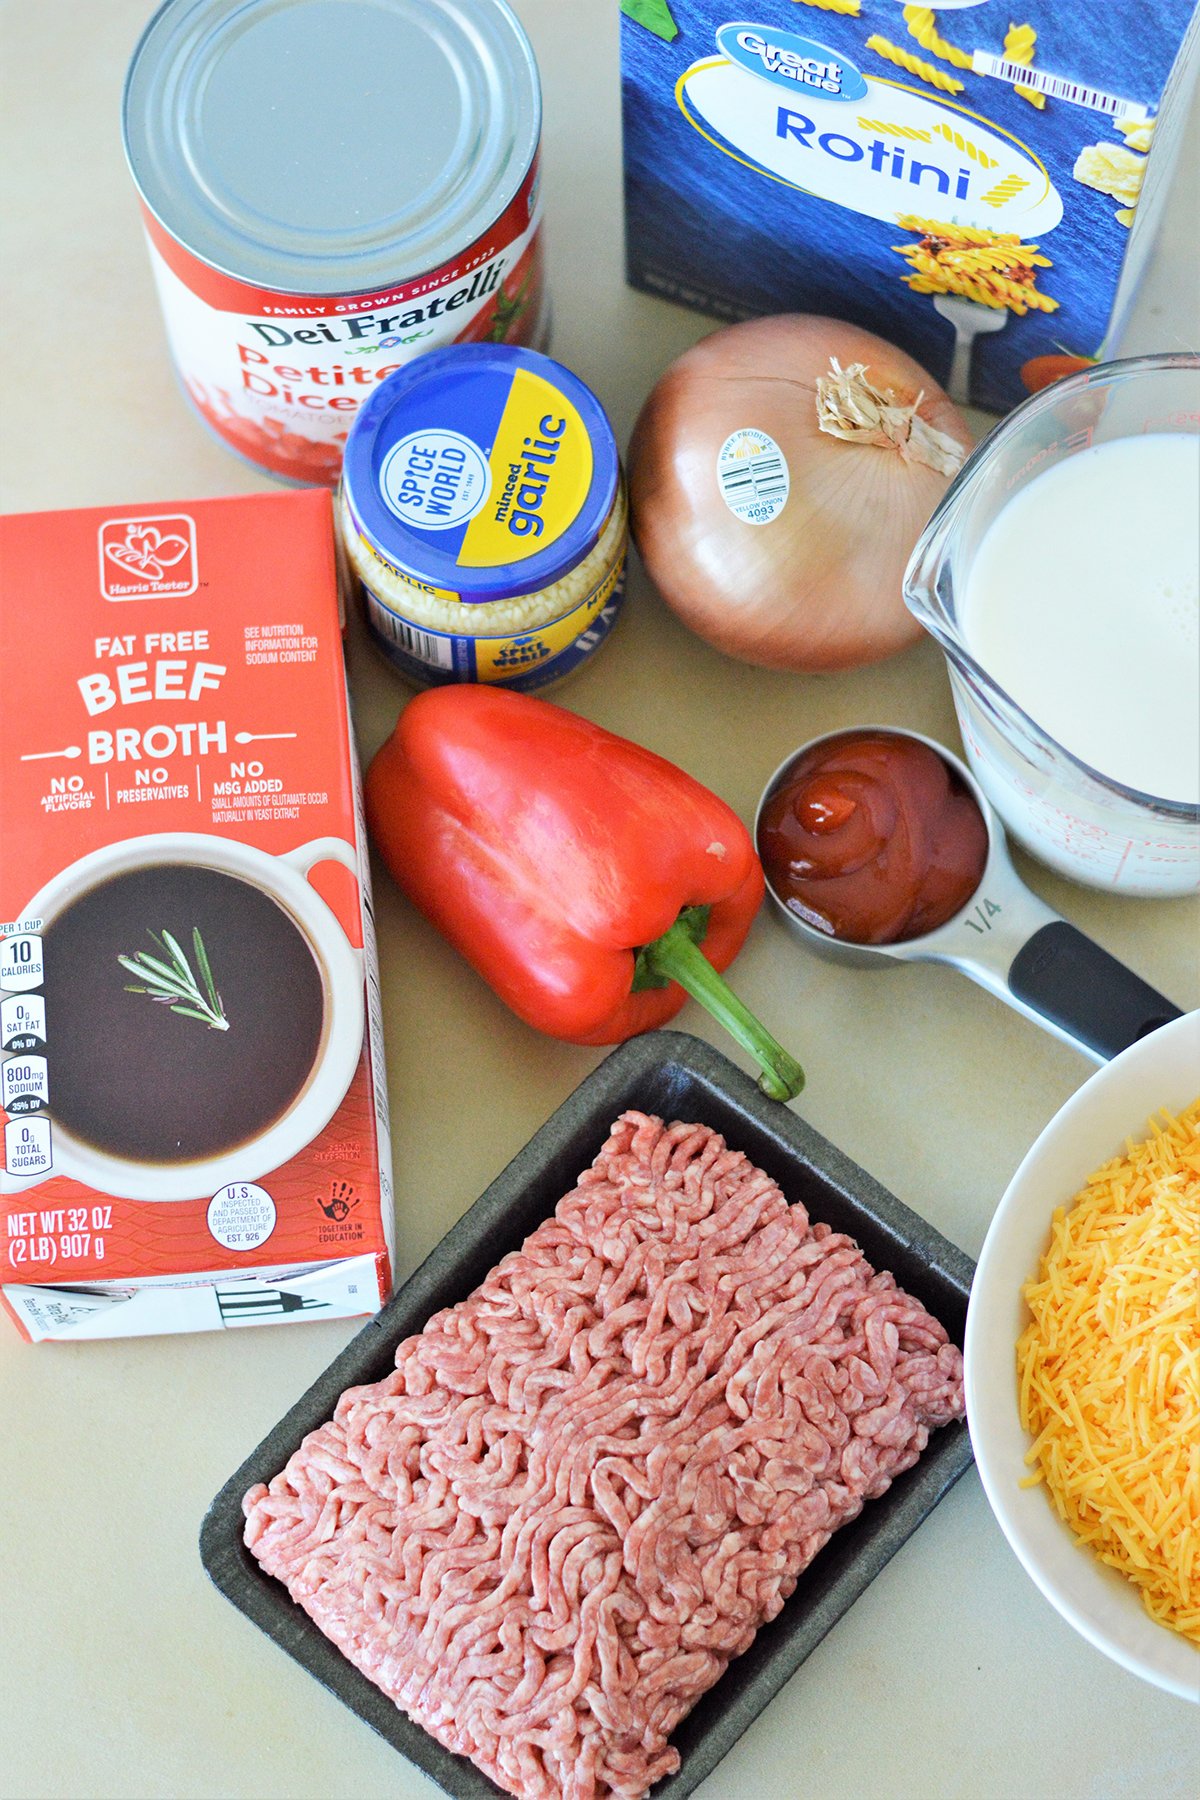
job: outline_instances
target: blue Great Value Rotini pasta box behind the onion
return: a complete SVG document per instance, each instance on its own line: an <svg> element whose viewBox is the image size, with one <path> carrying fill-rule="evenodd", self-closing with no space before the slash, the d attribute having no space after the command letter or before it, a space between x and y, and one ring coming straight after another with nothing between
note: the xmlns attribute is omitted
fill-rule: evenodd
<svg viewBox="0 0 1200 1800"><path fill-rule="evenodd" d="M1178 151L1191 0L622 14L635 286L729 320L849 319L991 410L1115 355Z"/></svg>

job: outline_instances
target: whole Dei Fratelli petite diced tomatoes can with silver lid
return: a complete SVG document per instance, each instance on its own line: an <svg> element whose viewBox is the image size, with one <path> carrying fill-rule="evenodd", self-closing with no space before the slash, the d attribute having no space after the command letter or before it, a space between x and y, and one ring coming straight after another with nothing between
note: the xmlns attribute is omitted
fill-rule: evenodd
<svg viewBox="0 0 1200 1800"><path fill-rule="evenodd" d="M504 0L167 0L124 142L171 356L212 430L335 484L394 369L540 346L540 130Z"/></svg>

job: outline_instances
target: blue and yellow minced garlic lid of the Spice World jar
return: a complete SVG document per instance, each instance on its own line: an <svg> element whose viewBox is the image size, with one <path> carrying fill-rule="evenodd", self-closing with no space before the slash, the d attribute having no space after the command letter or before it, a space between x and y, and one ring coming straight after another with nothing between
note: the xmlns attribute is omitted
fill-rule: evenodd
<svg viewBox="0 0 1200 1800"><path fill-rule="evenodd" d="M374 389L342 490L367 544L468 603L536 594L599 540L621 475L590 387L513 344L450 344Z"/></svg>

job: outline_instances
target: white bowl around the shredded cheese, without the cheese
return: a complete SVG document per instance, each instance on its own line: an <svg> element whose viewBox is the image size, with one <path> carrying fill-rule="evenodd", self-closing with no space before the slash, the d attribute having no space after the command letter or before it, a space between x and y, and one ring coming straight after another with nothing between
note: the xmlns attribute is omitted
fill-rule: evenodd
<svg viewBox="0 0 1200 1800"><path fill-rule="evenodd" d="M1099 1069L1054 1114L1013 1175L984 1240L966 1316L966 1417L1000 1530L1029 1575L1088 1643L1168 1694L1200 1701L1200 1649L1155 1620L1132 1582L1085 1550L1042 1485L1022 1489L1029 1435L1016 1400L1020 1296L1051 1237L1051 1217L1092 1170L1142 1138L1151 1112L1200 1093L1200 1012L1160 1026Z"/></svg>

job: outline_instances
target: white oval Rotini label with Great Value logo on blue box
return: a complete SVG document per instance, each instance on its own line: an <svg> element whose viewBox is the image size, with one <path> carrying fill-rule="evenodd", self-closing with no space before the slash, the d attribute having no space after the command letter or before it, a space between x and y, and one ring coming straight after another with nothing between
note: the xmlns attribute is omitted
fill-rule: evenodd
<svg viewBox="0 0 1200 1800"><path fill-rule="evenodd" d="M680 112L770 182L892 225L918 214L1033 236L1063 216L1033 149L966 108L750 20L721 25L716 49L680 76Z"/></svg>

